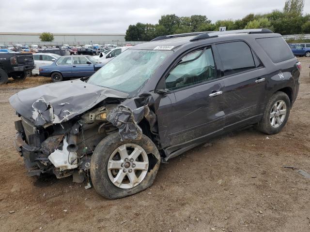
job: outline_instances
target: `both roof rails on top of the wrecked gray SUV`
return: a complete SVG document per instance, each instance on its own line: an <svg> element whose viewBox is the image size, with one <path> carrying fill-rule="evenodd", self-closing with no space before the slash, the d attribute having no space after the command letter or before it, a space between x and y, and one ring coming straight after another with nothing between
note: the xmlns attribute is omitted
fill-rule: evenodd
<svg viewBox="0 0 310 232"><path fill-rule="evenodd" d="M201 31L201 32L183 33L183 34L175 34L175 35L162 35L162 36L156 37L155 39L153 39L151 41L166 40L166 39L171 39L171 38L196 35L194 38L192 38L190 40L192 42L192 41L217 37L218 35L235 34L235 33L261 34L261 33L273 33L273 31L271 31L269 29L265 29L265 28L263 28L263 29L226 30L226 31Z"/></svg>

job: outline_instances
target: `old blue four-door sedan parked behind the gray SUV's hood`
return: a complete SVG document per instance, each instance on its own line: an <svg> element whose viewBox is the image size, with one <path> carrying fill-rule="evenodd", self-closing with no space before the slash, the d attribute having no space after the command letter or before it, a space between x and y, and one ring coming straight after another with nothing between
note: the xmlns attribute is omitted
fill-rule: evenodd
<svg viewBox="0 0 310 232"><path fill-rule="evenodd" d="M80 78L93 75L104 64L92 56L62 56L48 66L39 69L41 76L52 78L52 82L59 82L69 78Z"/></svg>

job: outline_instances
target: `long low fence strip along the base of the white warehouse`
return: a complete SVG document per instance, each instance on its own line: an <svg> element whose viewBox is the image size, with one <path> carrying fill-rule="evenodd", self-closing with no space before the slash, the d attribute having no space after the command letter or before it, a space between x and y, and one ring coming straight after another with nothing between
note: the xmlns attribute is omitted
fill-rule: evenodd
<svg viewBox="0 0 310 232"><path fill-rule="evenodd" d="M61 46L62 44L68 44L70 46L76 46L76 45L85 45L85 44L116 44L116 45L125 45L125 44L131 44L131 45L137 45L139 43L145 43L147 41L93 41L93 42L0 42L0 44L3 45L14 45L14 44L27 44L27 45L31 45L31 44L36 44L38 46Z"/></svg>

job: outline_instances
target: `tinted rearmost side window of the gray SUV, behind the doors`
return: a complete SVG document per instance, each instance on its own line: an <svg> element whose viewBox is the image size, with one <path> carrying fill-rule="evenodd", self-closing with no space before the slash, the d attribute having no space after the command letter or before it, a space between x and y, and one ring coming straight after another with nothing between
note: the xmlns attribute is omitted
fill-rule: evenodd
<svg viewBox="0 0 310 232"><path fill-rule="evenodd" d="M272 62L279 63L294 58L294 54L282 37L256 39Z"/></svg>

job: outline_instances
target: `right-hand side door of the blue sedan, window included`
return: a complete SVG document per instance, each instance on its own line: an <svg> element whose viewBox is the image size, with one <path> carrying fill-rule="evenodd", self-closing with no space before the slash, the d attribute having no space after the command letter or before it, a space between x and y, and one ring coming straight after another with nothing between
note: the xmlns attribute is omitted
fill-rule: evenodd
<svg viewBox="0 0 310 232"><path fill-rule="evenodd" d="M91 76L94 73L93 64L88 64L89 60L85 57L73 57L72 58L72 76L84 77Z"/></svg>

